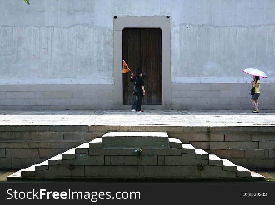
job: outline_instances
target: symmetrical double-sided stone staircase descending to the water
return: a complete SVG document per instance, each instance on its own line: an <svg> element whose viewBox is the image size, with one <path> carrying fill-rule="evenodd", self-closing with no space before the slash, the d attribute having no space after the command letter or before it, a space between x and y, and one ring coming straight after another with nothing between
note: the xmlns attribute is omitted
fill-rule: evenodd
<svg viewBox="0 0 275 205"><path fill-rule="evenodd" d="M265 179L165 132L106 133L8 176L8 180L98 178Z"/></svg>

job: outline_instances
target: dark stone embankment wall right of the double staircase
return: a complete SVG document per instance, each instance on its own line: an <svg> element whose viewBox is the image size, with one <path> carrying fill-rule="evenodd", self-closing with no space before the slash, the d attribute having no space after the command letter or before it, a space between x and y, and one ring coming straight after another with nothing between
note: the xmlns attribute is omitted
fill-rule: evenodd
<svg viewBox="0 0 275 205"><path fill-rule="evenodd" d="M204 149L250 169L275 169L275 127L205 127L168 133L196 149Z"/></svg>

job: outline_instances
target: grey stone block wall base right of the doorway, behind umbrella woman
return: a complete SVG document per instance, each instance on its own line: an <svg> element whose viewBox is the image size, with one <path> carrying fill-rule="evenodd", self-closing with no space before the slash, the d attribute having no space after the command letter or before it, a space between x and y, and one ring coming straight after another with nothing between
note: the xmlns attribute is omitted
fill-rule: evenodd
<svg viewBox="0 0 275 205"><path fill-rule="evenodd" d="M252 109L250 83L172 83L174 109ZM275 109L275 83L261 83L259 108Z"/></svg>

